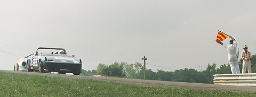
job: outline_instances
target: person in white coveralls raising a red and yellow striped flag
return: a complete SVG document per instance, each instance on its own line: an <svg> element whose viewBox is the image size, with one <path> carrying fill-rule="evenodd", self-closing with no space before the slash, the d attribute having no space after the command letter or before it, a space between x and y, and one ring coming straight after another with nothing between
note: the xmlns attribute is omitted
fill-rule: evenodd
<svg viewBox="0 0 256 97"><path fill-rule="evenodd" d="M229 41L228 46L223 44L220 40L216 40L216 42L218 42L220 45L222 45L224 48L228 50L228 62L229 62L232 74L239 74L240 70L239 70L238 59L236 54L237 43L233 37L229 36L229 38L231 38L231 40Z"/></svg>

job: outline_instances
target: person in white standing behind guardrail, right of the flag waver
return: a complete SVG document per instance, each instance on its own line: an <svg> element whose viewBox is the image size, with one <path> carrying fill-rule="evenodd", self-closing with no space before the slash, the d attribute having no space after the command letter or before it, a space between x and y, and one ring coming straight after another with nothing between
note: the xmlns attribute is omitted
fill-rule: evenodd
<svg viewBox="0 0 256 97"><path fill-rule="evenodd" d="M252 67L251 67L251 60L252 54L250 51L248 51L248 47L245 45L244 50L242 51L242 59L243 59L243 69L242 69L242 74L245 73L246 67L248 69L248 73L252 73Z"/></svg>

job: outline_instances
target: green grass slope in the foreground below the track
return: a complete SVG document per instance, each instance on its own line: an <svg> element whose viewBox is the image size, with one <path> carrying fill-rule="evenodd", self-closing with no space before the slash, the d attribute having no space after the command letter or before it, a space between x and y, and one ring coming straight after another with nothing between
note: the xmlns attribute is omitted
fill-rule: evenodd
<svg viewBox="0 0 256 97"><path fill-rule="evenodd" d="M256 96L0 72L0 96Z"/></svg>

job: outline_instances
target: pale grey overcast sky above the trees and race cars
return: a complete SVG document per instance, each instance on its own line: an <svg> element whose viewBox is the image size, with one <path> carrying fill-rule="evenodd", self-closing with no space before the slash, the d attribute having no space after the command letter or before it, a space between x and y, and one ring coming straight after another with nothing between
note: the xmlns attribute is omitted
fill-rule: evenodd
<svg viewBox="0 0 256 97"><path fill-rule="evenodd" d="M247 45L255 55L255 6L256 1L234 0L4 0L0 69L13 70L38 47L65 48L82 59L85 70L99 63L143 63L143 56L154 72L220 67L228 64L228 54L215 42L218 30L237 40L239 53Z"/></svg>

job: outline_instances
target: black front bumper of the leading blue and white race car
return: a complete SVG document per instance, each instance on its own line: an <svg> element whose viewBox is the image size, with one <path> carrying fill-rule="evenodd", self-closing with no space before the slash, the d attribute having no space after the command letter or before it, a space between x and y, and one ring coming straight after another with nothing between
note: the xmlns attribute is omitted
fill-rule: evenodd
<svg viewBox="0 0 256 97"><path fill-rule="evenodd" d="M81 73L82 64L74 63L54 63L45 61L44 68L49 72L61 72L61 73Z"/></svg>

